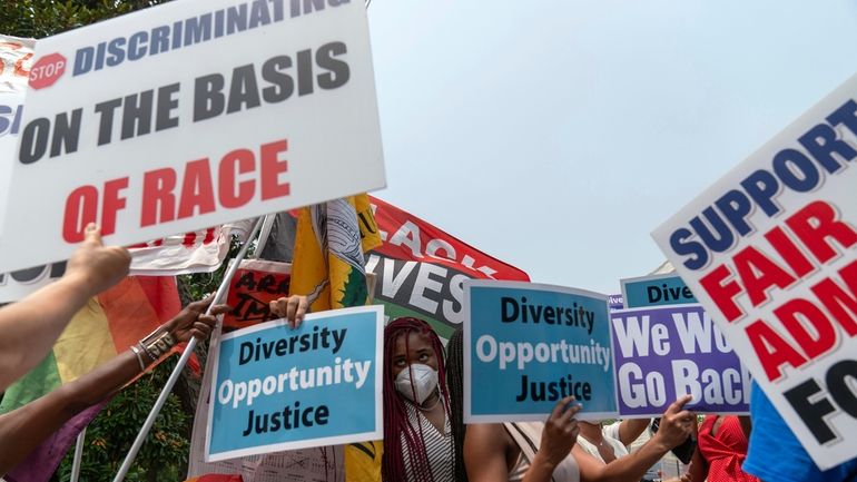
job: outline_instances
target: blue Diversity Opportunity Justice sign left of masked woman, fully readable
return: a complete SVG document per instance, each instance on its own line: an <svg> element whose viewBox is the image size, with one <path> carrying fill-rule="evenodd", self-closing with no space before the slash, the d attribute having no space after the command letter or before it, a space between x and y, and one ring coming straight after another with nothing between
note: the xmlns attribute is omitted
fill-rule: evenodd
<svg viewBox="0 0 857 482"><path fill-rule="evenodd" d="M361 306L224 335L206 460L381 439L382 316Z"/></svg>

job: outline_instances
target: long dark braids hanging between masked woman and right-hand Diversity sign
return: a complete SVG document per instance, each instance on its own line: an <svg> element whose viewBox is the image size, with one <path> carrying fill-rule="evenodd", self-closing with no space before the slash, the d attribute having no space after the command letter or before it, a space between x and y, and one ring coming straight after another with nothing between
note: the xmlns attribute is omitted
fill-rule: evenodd
<svg viewBox="0 0 857 482"><path fill-rule="evenodd" d="M450 421L455 445L455 480L467 482L464 468L464 332L455 329L446 343L446 383L450 386Z"/></svg>

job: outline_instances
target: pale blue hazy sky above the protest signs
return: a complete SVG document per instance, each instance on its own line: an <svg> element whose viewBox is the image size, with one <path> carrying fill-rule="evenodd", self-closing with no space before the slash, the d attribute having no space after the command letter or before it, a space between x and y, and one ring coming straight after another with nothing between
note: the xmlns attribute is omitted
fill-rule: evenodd
<svg viewBox="0 0 857 482"><path fill-rule="evenodd" d="M378 197L618 293L649 233L857 72L857 3L373 0Z"/></svg>

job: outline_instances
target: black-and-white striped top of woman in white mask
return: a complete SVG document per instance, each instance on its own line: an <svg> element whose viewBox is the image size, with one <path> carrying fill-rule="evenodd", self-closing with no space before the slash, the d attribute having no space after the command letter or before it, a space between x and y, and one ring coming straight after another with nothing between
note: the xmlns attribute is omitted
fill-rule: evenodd
<svg viewBox="0 0 857 482"><path fill-rule="evenodd" d="M407 421L412 426L420 426L417 430L423 434L423 443L425 443L425 454L428 456L428 466L432 470L432 479L434 482L455 482L455 451L452 440L452 426L450 425L450 417L444 416L443 434L432 425L432 422L423 416L412 403L405 403L407 407ZM402 454L404 458L405 470L408 471L407 479L413 480L410 473L411 454L407 452L407 445L405 444L405 435L402 434Z"/></svg>

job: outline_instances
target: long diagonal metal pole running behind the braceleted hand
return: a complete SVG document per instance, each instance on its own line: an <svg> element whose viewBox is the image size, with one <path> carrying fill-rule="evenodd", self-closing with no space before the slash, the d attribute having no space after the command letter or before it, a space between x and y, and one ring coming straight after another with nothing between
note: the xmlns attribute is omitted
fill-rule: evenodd
<svg viewBox="0 0 857 482"><path fill-rule="evenodd" d="M211 306L216 305L217 303L220 302L220 299L223 299L224 295L226 294L226 289L229 287L229 282L232 281L233 276L235 276L235 272L238 270L238 265L242 263L242 259L244 259L244 257L247 255L247 248L250 246L250 240L253 240L253 238L259 232L263 219L264 217L259 217L258 219L256 219L256 224L253 226L253 230L250 232L250 235L247 236L247 242L244 243L244 246L242 246L240 250L235 256L235 259L233 259L232 266L229 266L229 269L226 270L226 274L224 275L224 281L223 283L220 283L220 286L217 288L217 294L215 294L215 298L211 301L211 304L208 306L208 309L206 309L206 314L210 313ZM125 461L122 462L122 465L119 468L119 472L116 474L114 482L122 482L125 480L125 476L128 474L128 470L130 470L134 459L137 456L137 453L140 451L140 447L142 446L142 442L146 441L146 436L149 434L149 431L151 430L151 425L155 424L155 419L158 416L158 413L160 413L160 409L162 409L164 404L167 402L167 396L169 396L169 393L173 391L173 386L178 381L178 376L181 374L181 370L185 367L185 365L187 364L187 361L190 358L190 354L194 353L194 348L196 348L196 344L197 344L196 338L190 338L190 341L187 343L187 347L185 347L185 352L181 354L181 357L178 358L176 368L173 370L173 374L169 375L169 380L167 380L167 384L164 385L164 390L160 391L160 395L158 396L157 402L155 402L155 406L151 407L151 412L149 412L149 416L146 417L146 422L142 423L140 433L137 434L137 439L135 439L134 445L131 445L131 450L129 450L128 455L125 456Z"/></svg>

